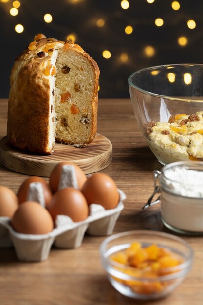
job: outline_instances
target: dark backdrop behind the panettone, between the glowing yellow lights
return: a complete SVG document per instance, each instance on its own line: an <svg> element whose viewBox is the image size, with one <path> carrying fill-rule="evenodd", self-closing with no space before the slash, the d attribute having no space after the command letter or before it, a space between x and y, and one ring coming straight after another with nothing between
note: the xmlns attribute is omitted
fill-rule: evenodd
<svg viewBox="0 0 203 305"><path fill-rule="evenodd" d="M171 7L171 0L129 0L129 9L121 8L120 0L19 0L18 15L11 16L12 0L0 0L0 97L8 97L9 75L15 57L31 42L35 34L66 40L70 33L77 35L80 44L98 63L100 74L99 97L129 97L128 76L139 69L175 63L202 63L203 57L203 0L179 0L180 9ZM50 13L51 23L44 21ZM105 25L96 26L102 18ZM164 25L157 27L156 18ZM187 21L196 22L195 29ZM15 32L15 25L22 24L24 31ZM133 26L130 35L127 25ZM186 46L178 38L188 39ZM153 46L155 54L148 57L146 46ZM102 56L104 50L111 58ZM128 61L120 60L121 53L128 54Z"/></svg>

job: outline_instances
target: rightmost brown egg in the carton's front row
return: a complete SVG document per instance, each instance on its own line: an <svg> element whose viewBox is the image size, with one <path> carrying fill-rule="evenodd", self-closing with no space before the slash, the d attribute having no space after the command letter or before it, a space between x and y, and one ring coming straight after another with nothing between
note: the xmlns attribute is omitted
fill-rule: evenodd
<svg viewBox="0 0 203 305"><path fill-rule="evenodd" d="M115 182L104 173L95 173L84 183L82 193L87 203L97 203L105 210L113 209L119 202L119 193Z"/></svg>

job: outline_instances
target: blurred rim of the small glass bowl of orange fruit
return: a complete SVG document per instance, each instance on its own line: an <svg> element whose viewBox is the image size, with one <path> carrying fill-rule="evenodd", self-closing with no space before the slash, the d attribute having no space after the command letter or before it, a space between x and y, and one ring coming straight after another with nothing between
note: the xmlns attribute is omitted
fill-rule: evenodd
<svg viewBox="0 0 203 305"><path fill-rule="evenodd" d="M116 240L117 238L119 237L125 237L125 236L129 236L129 235L133 235L133 234L136 234L136 235L145 235L145 234L148 234L148 235L158 235L160 237L167 237L169 238L170 240L173 240L173 241L176 241L176 242L179 242L181 243L183 246L185 246L188 251L189 251L189 254L188 254L188 257L186 258L186 260L175 266L175 267L170 267L170 268L165 268L166 271L174 271L176 270L177 268L179 269L179 271L175 272L175 273L171 273L171 274L167 274L167 275L162 275L162 276L158 276L156 279L154 278L148 278L148 277L136 277L136 276L133 276L133 275L129 275L129 274L125 274L122 270L116 270L114 269L114 267L123 267L124 265L123 264L119 264L117 262L113 262L109 259L108 256L105 256L105 247L106 245L113 241L113 240ZM150 281L150 282L154 282L154 281L168 281L168 280L172 280L172 279L176 279L176 278L179 278L181 276L185 276L186 273L189 271L191 265L192 265L192 261L193 261L193 249L192 247L187 243L185 242L184 239L176 236L176 235L173 235L173 234L170 234L170 233L165 233L165 232L160 232L160 231L149 231L149 230L134 230L134 231L125 231L125 232L121 232L121 233L117 233L117 234L114 234L114 235L111 235L107 238L105 238L103 240L103 242L101 243L100 245L100 256L101 256L101 259L102 261L105 262L105 264L107 265L105 267L106 271L108 272L108 267L110 267L111 269L113 270L116 270L118 271L119 273L123 273L125 274L126 276L128 276L128 279L129 280L139 280L139 281ZM129 268L129 267L128 267ZM133 269L133 267L132 267ZM123 267L123 270L125 270L125 267Z"/></svg>

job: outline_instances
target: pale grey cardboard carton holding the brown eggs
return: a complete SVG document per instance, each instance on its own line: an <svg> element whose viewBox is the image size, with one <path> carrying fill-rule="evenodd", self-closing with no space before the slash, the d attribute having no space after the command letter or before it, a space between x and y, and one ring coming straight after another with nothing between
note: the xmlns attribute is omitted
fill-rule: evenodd
<svg viewBox="0 0 203 305"><path fill-rule="evenodd" d="M97 204L90 205L90 215L84 221L73 222L70 217L58 215L55 229L48 234L31 235L14 231L9 217L0 217L0 247L14 246L21 261L43 261L49 256L52 245L57 248L80 247L84 234L110 235L124 208L126 195L118 190L120 201L111 210Z"/></svg>

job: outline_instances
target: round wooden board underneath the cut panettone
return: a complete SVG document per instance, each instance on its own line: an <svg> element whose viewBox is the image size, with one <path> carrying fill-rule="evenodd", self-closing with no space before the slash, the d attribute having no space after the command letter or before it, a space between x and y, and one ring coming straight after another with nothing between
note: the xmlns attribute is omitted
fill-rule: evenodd
<svg viewBox="0 0 203 305"><path fill-rule="evenodd" d="M112 144L99 133L83 148L56 143L53 155L24 153L9 145L6 136L0 140L0 162L10 170L27 175L49 177L55 165L63 161L73 162L90 174L107 167L111 159Z"/></svg>

